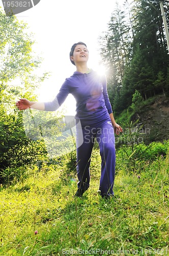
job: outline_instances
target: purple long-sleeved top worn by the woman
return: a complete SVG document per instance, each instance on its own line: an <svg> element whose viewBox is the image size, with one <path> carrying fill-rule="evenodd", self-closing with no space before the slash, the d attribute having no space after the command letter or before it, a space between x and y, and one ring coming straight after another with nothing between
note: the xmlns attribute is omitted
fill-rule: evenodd
<svg viewBox="0 0 169 256"><path fill-rule="evenodd" d="M107 120L112 113L111 104L107 94L105 76L96 72L74 72L66 78L58 95L51 102L45 102L45 111L55 111L62 105L68 94L76 100L76 119L83 124L91 124Z"/></svg>

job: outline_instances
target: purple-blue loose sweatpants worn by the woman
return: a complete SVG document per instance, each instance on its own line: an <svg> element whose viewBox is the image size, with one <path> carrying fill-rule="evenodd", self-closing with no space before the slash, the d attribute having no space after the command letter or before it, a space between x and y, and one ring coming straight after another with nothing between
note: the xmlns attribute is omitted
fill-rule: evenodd
<svg viewBox="0 0 169 256"><path fill-rule="evenodd" d="M101 155L100 195L114 195L115 179L115 135L111 121L86 126L76 126L78 188L87 190L90 186L91 154L96 138Z"/></svg>

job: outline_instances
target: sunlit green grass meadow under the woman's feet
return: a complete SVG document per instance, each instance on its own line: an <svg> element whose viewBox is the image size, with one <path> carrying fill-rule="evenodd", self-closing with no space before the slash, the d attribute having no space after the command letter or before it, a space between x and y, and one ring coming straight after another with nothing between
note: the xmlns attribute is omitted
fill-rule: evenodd
<svg viewBox="0 0 169 256"><path fill-rule="evenodd" d="M0 255L169 255L168 156L135 173L117 166L116 198L106 200L97 154L82 198L60 166L0 188Z"/></svg>

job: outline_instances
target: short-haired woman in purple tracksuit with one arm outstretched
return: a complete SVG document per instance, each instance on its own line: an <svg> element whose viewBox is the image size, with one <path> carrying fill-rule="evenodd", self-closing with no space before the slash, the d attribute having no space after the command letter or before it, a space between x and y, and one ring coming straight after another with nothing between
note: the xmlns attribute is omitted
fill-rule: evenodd
<svg viewBox="0 0 169 256"><path fill-rule="evenodd" d="M122 132L116 123L109 102L106 78L100 77L87 66L89 52L86 44L78 42L70 51L70 60L76 71L66 78L58 95L51 102L33 102L20 99L16 105L19 110L55 111L65 101L69 93L76 99L76 151L78 189L75 196L81 197L90 186L90 160L94 139L96 138L101 155L100 195L114 196L115 179L115 136ZM80 124L80 125L79 125ZM82 142L81 142L82 135Z"/></svg>

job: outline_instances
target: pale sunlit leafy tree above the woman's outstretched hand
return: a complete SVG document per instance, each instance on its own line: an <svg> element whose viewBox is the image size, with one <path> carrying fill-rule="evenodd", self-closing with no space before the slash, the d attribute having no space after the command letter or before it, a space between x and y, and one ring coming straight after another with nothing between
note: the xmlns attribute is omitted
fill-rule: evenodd
<svg viewBox="0 0 169 256"><path fill-rule="evenodd" d="M2 10L0 24L0 101L13 114L18 98L36 100L35 90L48 73L36 75L42 58L32 50L35 41L27 25Z"/></svg>

